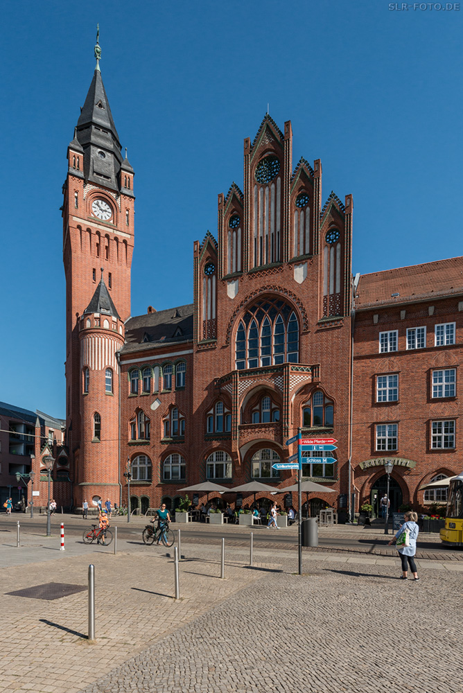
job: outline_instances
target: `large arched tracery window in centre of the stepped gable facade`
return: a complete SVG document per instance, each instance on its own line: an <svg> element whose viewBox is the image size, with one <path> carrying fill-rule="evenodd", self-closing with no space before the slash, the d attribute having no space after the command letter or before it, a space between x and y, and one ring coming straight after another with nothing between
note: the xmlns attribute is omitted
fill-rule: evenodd
<svg viewBox="0 0 463 693"><path fill-rule="evenodd" d="M248 308L236 331L236 368L299 362L299 322L281 299L261 299Z"/></svg>

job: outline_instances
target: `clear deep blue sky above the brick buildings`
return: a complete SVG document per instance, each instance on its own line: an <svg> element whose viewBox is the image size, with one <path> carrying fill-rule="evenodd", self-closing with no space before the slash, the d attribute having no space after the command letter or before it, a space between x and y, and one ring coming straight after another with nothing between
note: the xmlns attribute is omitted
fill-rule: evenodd
<svg viewBox="0 0 463 693"><path fill-rule="evenodd" d="M270 103L323 200L353 194L353 272L462 254L460 11L383 0L3 0L0 401L64 416L62 184L94 71L135 170L132 315L193 301L193 241L243 185Z"/></svg>

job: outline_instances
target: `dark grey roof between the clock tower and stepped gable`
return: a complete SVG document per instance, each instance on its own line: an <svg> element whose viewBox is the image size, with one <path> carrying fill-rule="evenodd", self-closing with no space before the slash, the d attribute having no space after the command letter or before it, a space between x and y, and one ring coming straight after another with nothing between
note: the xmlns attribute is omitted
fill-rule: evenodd
<svg viewBox="0 0 463 693"><path fill-rule="evenodd" d="M193 304L131 317L122 353L193 340Z"/></svg>

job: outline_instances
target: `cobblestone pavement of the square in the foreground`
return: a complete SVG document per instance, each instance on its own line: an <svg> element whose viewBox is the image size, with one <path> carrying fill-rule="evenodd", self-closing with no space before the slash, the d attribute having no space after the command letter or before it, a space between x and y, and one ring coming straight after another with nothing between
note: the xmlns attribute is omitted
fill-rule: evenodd
<svg viewBox="0 0 463 693"><path fill-rule="evenodd" d="M221 580L217 529L217 543L182 541L178 602L173 549L129 538L116 556L77 540L60 552L33 534L17 549L9 536L0 545L9 565L0 572L0 692L463 693L463 563L420 560L421 580L405 583L396 557L304 552L299 577L297 552L276 550L270 536L254 547L254 569L229 536ZM55 601L7 594L85 586L90 562L94 644L86 591ZM411 653L398 661L404 641Z"/></svg>

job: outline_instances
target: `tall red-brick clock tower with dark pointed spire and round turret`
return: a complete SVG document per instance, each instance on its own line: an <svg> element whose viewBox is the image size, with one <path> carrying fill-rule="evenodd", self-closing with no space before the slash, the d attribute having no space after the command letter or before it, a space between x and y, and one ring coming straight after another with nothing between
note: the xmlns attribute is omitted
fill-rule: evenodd
<svg viewBox="0 0 463 693"><path fill-rule="evenodd" d="M96 68L67 148L63 261L66 275L66 426L73 502L119 502L119 350L130 317L134 170ZM103 469L105 470L102 473Z"/></svg>

